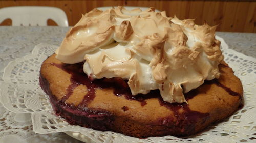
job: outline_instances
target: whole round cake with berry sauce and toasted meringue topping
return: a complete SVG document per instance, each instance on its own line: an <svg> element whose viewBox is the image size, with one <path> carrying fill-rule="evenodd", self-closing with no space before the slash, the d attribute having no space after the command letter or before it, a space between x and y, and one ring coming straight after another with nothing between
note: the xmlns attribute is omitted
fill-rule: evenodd
<svg viewBox="0 0 256 143"><path fill-rule="evenodd" d="M42 63L40 86L71 125L139 138L195 134L243 97L215 28L154 8L94 9Z"/></svg>

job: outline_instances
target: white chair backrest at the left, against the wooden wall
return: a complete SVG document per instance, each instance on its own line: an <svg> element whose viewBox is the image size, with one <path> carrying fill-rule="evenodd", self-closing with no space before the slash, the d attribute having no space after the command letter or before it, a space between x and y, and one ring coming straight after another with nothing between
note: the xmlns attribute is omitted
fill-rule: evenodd
<svg viewBox="0 0 256 143"><path fill-rule="evenodd" d="M0 23L10 18L12 26L47 26L52 19L58 26L69 26L66 13L55 7L18 6L0 9Z"/></svg>

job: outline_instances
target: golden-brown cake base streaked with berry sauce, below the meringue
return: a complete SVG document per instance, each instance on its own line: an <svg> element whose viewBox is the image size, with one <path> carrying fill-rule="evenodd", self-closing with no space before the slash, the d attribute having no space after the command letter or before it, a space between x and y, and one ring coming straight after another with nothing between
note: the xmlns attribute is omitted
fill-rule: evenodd
<svg viewBox="0 0 256 143"><path fill-rule="evenodd" d="M126 81L96 79L83 63L64 64L50 56L41 66L40 85L57 115L71 125L133 137L189 135L230 116L241 105L243 88L231 68L219 65L219 79L185 94L187 103L168 103L154 90L132 96Z"/></svg>

